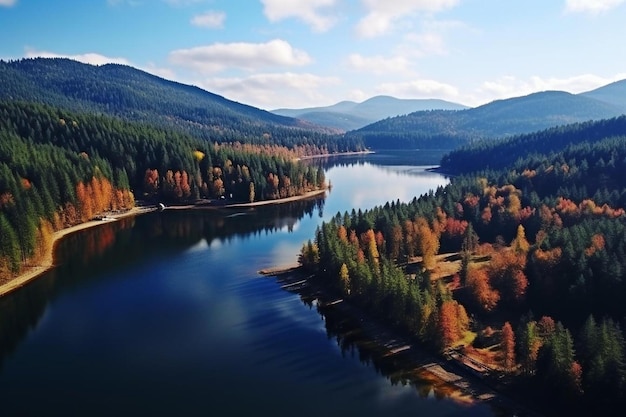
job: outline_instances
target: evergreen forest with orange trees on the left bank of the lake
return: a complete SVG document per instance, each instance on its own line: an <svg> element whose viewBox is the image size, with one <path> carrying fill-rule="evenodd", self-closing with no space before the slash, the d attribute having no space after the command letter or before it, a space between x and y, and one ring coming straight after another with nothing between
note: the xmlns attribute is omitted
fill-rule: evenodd
<svg viewBox="0 0 626 417"><path fill-rule="evenodd" d="M148 204L254 202L326 186L297 161L322 149L217 143L43 104L0 102L0 279L47 252L54 231Z"/></svg>

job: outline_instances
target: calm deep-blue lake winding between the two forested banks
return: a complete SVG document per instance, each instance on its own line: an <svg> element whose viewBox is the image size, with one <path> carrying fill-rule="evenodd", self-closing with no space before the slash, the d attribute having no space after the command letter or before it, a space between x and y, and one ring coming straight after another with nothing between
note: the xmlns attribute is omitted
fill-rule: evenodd
<svg viewBox="0 0 626 417"><path fill-rule="evenodd" d="M401 155L311 161L327 168L325 199L152 213L67 237L58 268L0 299L1 415L503 415L411 383L258 274L293 264L337 212L448 182L425 168L436 156Z"/></svg>

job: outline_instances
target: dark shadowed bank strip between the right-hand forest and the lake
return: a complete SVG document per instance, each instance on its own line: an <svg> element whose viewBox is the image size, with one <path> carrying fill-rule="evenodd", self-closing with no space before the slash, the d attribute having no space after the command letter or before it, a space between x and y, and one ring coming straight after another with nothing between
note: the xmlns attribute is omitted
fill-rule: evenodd
<svg viewBox="0 0 626 417"><path fill-rule="evenodd" d="M366 345L370 354L378 360L394 359L395 375L410 375L410 382L416 385L427 383L436 395L445 396L460 404L471 406L487 403L505 411L502 415L539 416L495 389L484 377L468 371L460 360L438 356L416 345L410 338L395 332L359 307L330 294L316 284L312 280L313 275L304 272L299 265L279 266L258 272L267 277L275 277L286 291L296 293L303 299L315 299L321 314L333 314L343 321L353 323L351 337L360 333L358 338L361 344Z"/></svg>

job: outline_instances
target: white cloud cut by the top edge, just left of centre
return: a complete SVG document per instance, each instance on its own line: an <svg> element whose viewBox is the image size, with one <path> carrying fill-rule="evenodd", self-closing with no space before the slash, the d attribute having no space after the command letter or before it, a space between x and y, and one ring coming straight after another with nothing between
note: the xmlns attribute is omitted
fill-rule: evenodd
<svg viewBox="0 0 626 417"><path fill-rule="evenodd" d="M336 23L333 16L320 12L320 9L334 6L336 0L261 0L261 3L270 22L295 17L316 32L325 32Z"/></svg>

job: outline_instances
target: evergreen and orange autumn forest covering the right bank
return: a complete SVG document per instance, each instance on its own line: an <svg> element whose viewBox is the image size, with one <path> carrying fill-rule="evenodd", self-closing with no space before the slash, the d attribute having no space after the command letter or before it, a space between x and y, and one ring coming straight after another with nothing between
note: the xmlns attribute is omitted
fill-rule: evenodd
<svg viewBox="0 0 626 417"><path fill-rule="evenodd" d="M484 155L455 151L443 168L476 166L474 157L493 164L458 169L410 202L337 213L299 261L339 296L438 354L480 364L486 380L541 412L614 413L626 401L623 122L552 129ZM529 145L535 137L543 147ZM497 155L512 146L533 151L500 167Z"/></svg>

